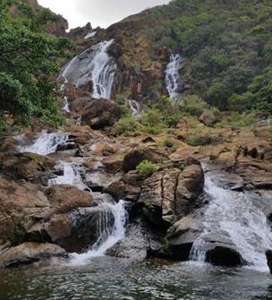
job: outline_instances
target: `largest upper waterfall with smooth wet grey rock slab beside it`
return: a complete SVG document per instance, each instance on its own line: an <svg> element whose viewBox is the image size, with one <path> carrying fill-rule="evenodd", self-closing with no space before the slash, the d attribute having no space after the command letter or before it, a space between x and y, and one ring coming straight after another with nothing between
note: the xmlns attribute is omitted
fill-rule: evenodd
<svg viewBox="0 0 272 300"><path fill-rule="evenodd" d="M92 98L110 99L116 64L106 51L113 43L114 39L100 42L89 47L81 55L73 57L64 67L64 79L71 81L76 87L92 82Z"/></svg>

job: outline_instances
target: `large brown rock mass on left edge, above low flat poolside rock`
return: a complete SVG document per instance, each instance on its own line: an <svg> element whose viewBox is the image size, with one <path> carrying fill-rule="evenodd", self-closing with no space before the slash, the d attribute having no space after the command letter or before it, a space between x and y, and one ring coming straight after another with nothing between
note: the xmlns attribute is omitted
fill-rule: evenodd
<svg viewBox="0 0 272 300"><path fill-rule="evenodd" d="M91 205L89 193L72 186L55 186L43 192L38 185L17 184L0 177L0 237L18 240L20 233L20 240L50 241L48 236L54 230L60 231L58 236L67 236L68 221L62 215ZM55 224L54 230L52 224L48 227L48 222Z"/></svg>

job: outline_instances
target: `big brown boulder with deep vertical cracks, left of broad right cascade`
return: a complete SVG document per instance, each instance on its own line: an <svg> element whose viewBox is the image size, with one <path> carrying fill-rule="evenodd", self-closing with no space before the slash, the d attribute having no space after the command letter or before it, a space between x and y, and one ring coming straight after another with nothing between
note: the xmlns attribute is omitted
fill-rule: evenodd
<svg viewBox="0 0 272 300"><path fill-rule="evenodd" d="M152 223L169 226L199 206L203 184L200 165L191 165L183 171L175 168L160 171L144 182L139 202Z"/></svg>

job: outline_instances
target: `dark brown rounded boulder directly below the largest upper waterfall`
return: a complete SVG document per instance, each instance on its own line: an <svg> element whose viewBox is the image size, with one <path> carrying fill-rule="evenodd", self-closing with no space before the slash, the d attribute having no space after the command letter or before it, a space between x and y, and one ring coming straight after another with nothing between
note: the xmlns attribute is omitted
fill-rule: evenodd
<svg viewBox="0 0 272 300"><path fill-rule="evenodd" d="M93 129L112 126L122 115L122 109L115 101L99 99L89 101L81 115L81 123L88 124Z"/></svg>

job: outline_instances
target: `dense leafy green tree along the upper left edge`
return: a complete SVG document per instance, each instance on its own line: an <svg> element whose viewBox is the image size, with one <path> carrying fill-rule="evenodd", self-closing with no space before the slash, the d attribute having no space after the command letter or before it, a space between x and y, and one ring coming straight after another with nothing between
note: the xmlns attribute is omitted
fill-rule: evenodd
<svg viewBox="0 0 272 300"><path fill-rule="evenodd" d="M16 17L10 13L11 5ZM13 115L17 124L30 124L32 118L61 123L53 79L60 71L57 59L72 44L44 33L47 21L57 18L48 10L34 13L21 1L1 1L0 130L5 115Z"/></svg>

